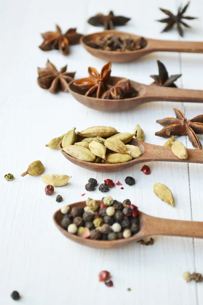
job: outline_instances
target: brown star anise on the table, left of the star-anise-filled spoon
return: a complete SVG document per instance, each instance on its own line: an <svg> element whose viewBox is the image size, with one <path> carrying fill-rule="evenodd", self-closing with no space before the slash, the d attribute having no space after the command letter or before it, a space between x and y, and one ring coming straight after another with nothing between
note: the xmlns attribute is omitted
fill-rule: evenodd
<svg viewBox="0 0 203 305"><path fill-rule="evenodd" d="M58 72L56 67L47 60L46 68L38 68L38 84L43 89L49 89L51 93L69 91L68 83L74 79L76 72L66 72L64 66Z"/></svg>

